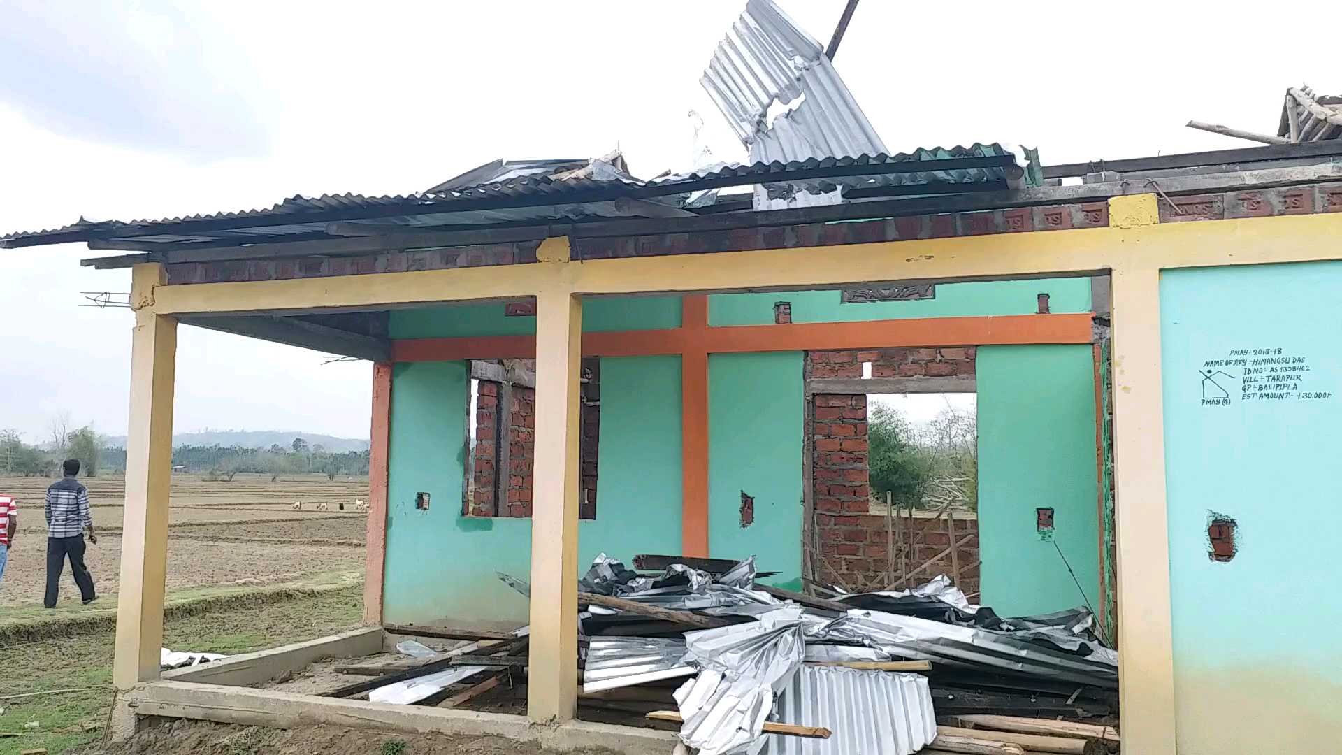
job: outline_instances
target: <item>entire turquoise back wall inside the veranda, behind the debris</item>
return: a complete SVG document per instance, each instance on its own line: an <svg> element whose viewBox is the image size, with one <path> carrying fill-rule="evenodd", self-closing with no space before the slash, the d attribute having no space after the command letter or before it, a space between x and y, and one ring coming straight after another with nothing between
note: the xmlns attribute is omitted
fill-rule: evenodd
<svg viewBox="0 0 1342 755"><path fill-rule="evenodd" d="M1041 292L1049 293L1053 312L1090 306L1088 279L1075 278L951 283L938 286L937 298L930 301L864 305L840 305L837 292L713 296L710 321L772 322L773 302L780 300L792 302L796 322L1021 314L1035 312ZM674 328L679 322L676 297L584 302L588 332ZM396 310L391 320L392 337L397 339L525 335L534 328L534 318L505 317L498 304ZM980 435L993 431L990 439L981 441L980 463L986 459L988 472L980 477L1001 474L1007 480L980 493L982 508L993 506L980 515L984 602L1001 613L1039 613L1079 602L1070 580L1057 586L1055 578L1066 576L1066 570L1051 545L1045 551L1037 541L1035 505L1059 509L1064 552L1083 584L1091 586L1092 602L1098 580L1090 351L1037 349L993 347L980 349L978 357ZM1057 356L1062 353L1074 356ZM601 371L597 519L580 524L580 559L585 564L603 549L621 559L637 552L679 552L679 359L605 359ZM525 599L503 587L494 571L526 576L530 521L460 517L466 387L463 364L400 364L396 369L385 591L391 622L444 615L505 623L526 618ZM796 586L801 574L803 355L715 355L710 357L709 396L711 553L756 555L761 570L780 572L776 583ZM1066 400L1059 403L1057 396ZM433 506L428 513L416 512L415 492L425 489L433 494ZM756 521L746 528L739 525L742 490L756 500ZM1051 492L1053 501L1035 502L1039 492ZM1075 515L1064 510L1072 505ZM1088 524L1083 524L1087 516ZM1084 527L1090 528L1087 536L1074 543L1074 529ZM990 564L997 562L1007 563L1008 571L994 580ZM1039 578L1015 579L1023 563ZM425 583L433 587L425 590Z"/></svg>

